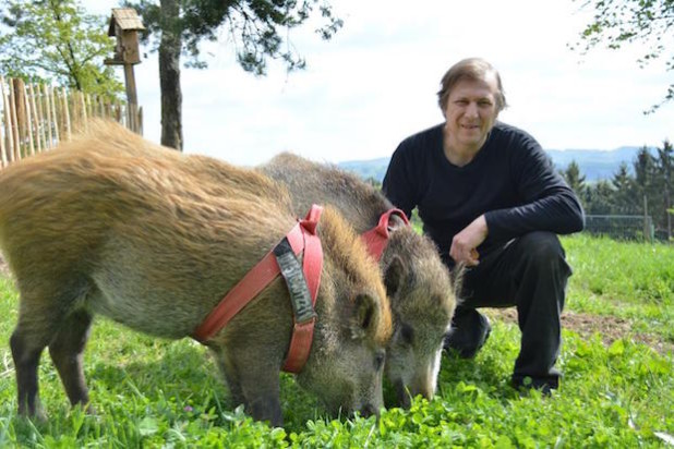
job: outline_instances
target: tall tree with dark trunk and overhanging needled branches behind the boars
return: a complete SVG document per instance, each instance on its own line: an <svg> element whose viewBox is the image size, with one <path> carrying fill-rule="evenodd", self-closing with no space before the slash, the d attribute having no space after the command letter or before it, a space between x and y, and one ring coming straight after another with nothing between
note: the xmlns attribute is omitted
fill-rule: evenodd
<svg viewBox="0 0 674 449"><path fill-rule="evenodd" d="M324 25L316 32L329 39L342 25L333 15L327 0L152 0L127 1L143 17L148 34L144 41L158 41L161 88L161 144L182 149L182 94L180 57L188 66L203 69L200 41L216 40L227 31L243 70L266 74L267 60L281 60L288 71L303 69L304 59L281 32L289 31L320 12ZM286 45L284 45L286 44ZM156 48L154 48L156 49Z"/></svg>

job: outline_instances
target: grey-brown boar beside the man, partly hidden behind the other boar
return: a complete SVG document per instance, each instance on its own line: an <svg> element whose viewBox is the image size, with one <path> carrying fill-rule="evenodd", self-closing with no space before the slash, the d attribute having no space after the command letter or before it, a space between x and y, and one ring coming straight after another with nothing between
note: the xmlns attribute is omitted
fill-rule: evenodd
<svg viewBox="0 0 674 449"><path fill-rule="evenodd" d="M312 203L329 204L361 234L393 208L381 192L356 175L292 154L278 155L258 170L288 187L296 213ZM390 236L380 259L394 314L385 372L399 404L408 406L410 396L433 397L456 299L435 245L399 217L390 219Z"/></svg>

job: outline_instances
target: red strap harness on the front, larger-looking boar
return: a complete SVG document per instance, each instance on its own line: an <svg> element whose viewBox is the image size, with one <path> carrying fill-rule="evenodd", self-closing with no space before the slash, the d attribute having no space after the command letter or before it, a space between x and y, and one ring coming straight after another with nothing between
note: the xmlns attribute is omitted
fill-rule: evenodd
<svg viewBox="0 0 674 449"><path fill-rule="evenodd" d="M323 268L323 248L321 240L316 235L316 225L322 211L323 208L321 206L313 205L306 218L300 220L286 235L296 255L304 250L302 271L311 293L311 312L313 312L313 306L316 304L316 294L321 284L321 270ZM270 251L222 298L213 312L196 328L192 337L201 342L210 339L276 279L279 274L280 268L276 256L274 251ZM315 313L301 320L296 315L293 320L292 338L290 339L290 348L288 349L284 371L297 374L302 371L309 357L314 335L314 323L316 320Z"/></svg>

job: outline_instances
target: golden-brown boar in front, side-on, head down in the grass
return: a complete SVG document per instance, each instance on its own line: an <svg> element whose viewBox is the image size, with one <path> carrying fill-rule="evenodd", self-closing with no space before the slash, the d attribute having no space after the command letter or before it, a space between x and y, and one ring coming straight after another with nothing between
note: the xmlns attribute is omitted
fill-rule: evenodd
<svg viewBox="0 0 674 449"><path fill-rule="evenodd" d="M94 314L132 329L192 336L220 299L297 223L284 187L252 170L185 156L119 125L0 171L0 248L21 304L10 345L19 412L43 417L45 347L72 404L87 404L83 351ZM302 213L303 216L304 213ZM376 264L340 215L316 231L323 269L298 383L328 409L377 413L390 310ZM204 344L234 403L281 424L279 371L293 329L277 278Z"/></svg>

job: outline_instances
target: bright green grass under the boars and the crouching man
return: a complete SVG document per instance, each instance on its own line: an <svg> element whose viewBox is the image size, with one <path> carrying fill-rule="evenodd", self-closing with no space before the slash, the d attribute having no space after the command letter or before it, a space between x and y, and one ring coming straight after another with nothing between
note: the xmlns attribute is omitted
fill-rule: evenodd
<svg viewBox="0 0 674 449"><path fill-rule="evenodd" d="M563 239L575 274L567 310L613 315L673 342L674 247ZM207 352L190 340L152 339L98 319L85 357L98 414L70 410L44 356L40 395L50 418L16 416L14 373L7 343L17 296L0 278L0 447L664 447L674 435L671 351L658 353L630 335L602 343L564 329L552 398L521 398L507 386L518 352L516 326L496 320L472 361L445 356L437 397L375 418L327 418L316 399L282 377L286 427L269 428L233 410Z"/></svg>

